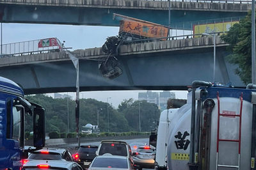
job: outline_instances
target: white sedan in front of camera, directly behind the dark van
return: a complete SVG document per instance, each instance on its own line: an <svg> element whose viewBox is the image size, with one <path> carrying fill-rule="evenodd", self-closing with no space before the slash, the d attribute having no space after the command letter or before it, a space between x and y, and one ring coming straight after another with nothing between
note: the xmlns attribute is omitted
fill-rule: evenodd
<svg viewBox="0 0 256 170"><path fill-rule="evenodd" d="M111 155L106 153L94 158L88 170L134 170L131 160L127 157Z"/></svg>

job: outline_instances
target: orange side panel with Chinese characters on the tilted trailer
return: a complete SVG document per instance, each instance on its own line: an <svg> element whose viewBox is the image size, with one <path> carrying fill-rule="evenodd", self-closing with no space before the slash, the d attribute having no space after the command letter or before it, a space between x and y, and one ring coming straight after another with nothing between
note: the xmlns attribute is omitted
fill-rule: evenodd
<svg viewBox="0 0 256 170"><path fill-rule="evenodd" d="M121 20L119 33L131 33L132 35L145 36L148 38L159 38L168 36L168 27L158 24L148 24L137 20Z"/></svg>

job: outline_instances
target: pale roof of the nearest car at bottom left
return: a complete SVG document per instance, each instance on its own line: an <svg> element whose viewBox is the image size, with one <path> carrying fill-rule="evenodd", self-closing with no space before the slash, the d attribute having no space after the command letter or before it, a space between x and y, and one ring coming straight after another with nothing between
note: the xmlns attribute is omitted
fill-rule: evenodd
<svg viewBox="0 0 256 170"><path fill-rule="evenodd" d="M24 167L38 166L39 164L47 164L51 167L67 168L74 162L68 162L64 160L29 160Z"/></svg>

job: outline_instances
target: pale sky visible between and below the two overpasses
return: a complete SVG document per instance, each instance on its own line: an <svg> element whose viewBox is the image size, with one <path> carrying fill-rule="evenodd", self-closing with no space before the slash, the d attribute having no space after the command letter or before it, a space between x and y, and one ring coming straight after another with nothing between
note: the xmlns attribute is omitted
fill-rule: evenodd
<svg viewBox="0 0 256 170"><path fill-rule="evenodd" d="M65 41L65 47L71 50L101 47L108 36L118 35L119 27L69 26L52 24L3 24L3 44L40 40L56 37ZM95 98L118 107L125 98L138 100L141 91L90 91L80 94L80 98ZM187 98L187 91L175 91L177 98ZM52 94L49 94L53 97ZM75 93L68 93L75 98Z"/></svg>

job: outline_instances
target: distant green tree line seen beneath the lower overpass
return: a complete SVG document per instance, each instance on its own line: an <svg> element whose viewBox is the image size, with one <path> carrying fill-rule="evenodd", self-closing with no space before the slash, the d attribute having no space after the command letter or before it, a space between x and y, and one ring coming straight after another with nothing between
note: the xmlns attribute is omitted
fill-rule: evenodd
<svg viewBox="0 0 256 170"><path fill-rule="evenodd" d="M76 102L68 98L54 99L45 95L28 95L26 98L30 102L40 104L45 108L45 127L46 132L67 133L68 119L67 119L67 104L69 108L69 123L70 132L76 131L75 109ZM100 136L116 136L127 135L122 132L138 131L138 101L124 100L118 109L113 108L108 103L99 102L95 99L81 99L80 100L80 118L79 129L91 123L97 125L97 112L99 110L99 128ZM115 134L108 133L108 111L109 111L109 131L116 132ZM140 101L141 112L141 130L150 131L156 127L156 122L159 119L160 111L156 104L150 104L146 101ZM32 117L26 116L26 131L33 131ZM64 134L63 134L64 135ZM61 135L61 137L63 136ZM95 134L92 134L95 135ZM83 137L83 135L81 135ZM86 136L89 137L90 135ZM67 137L76 137L75 133L67 134ZM84 135L85 137L85 135Z"/></svg>

